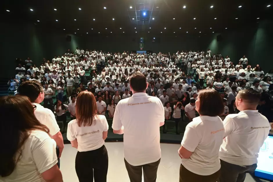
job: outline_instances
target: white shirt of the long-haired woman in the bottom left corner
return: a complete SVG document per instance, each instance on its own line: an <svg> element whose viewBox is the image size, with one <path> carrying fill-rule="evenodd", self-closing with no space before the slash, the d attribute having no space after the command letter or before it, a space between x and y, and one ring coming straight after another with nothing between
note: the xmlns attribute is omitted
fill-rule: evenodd
<svg viewBox="0 0 273 182"><path fill-rule="evenodd" d="M18 160L14 171L7 177L0 176L0 181L44 182L41 173L57 162L56 142L46 132L34 130L23 145L21 159Z"/></svg>

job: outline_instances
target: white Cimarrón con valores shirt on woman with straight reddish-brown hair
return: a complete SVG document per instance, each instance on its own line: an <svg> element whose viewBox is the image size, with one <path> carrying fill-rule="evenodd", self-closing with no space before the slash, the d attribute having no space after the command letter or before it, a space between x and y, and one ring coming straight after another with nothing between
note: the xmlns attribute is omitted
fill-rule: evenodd
<svg viewBox="0 0 273 182"><path fill-rule="evenodd" d="M105 143L103 131L108 131L108 123L103 115L95 115L91 126L78 126L78 120L73 119L67 126L67 139L77 139L79 152L96 150Z"/></svg>

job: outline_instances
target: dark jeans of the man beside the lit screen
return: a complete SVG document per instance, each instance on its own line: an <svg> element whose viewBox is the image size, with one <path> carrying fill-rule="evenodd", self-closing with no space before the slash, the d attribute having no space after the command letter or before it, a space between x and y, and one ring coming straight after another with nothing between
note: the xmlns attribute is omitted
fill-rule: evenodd
<svg viewBox="0 0 273 182"><path fill-rule="evenodd" d="M246 173L253 173L257 164L239 166L221 160L221 175L218 182L244 182Z"/></svg>

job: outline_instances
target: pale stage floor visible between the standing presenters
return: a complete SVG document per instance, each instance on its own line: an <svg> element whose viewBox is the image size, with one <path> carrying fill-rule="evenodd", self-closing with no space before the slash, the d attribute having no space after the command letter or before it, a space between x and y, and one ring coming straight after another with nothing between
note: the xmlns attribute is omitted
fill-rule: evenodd
<svg viewBox="0 0 273 182"><path fill-rule="evenodd" d="M157 171L157 182L178 182L180 158L177 150L180 144L161 143L161 162ZM109 156L107 182L129 182L123 158L123 142L106 142L105 146ZM64 145L61 157L61 172L64 182L78 182L75 171L75 157L77 149L71 144ZM143 180L142 180L143 181ZM255 182L252 176L247 174L245 182Z"/></svg>

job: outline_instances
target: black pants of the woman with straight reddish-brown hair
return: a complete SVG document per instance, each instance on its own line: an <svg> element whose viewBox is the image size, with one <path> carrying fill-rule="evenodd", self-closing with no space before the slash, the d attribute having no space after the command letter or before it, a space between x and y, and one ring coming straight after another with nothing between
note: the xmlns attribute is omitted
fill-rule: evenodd
<svg viewBox="0 0 273 182"><path fill-rule="evenodd" d="M108 172L108 152L103 145L99 149L78 152L75 169L79 182L106 182Z"/></svg>

